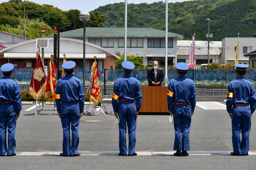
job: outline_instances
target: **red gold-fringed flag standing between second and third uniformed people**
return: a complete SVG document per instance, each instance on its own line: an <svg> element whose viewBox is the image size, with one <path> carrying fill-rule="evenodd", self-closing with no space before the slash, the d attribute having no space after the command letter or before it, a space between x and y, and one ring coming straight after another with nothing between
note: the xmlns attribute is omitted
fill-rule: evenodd
<svg viewBox="0 0 256 170"><path fill-rule="evenodd" d="M101 94L100 94L100 84L99 84L99 71L97 67L96 58L95 62L92 64L92 70L91 70L91 96L90 101L93 102L94 106L97 106L100 102Z"/></svg>

